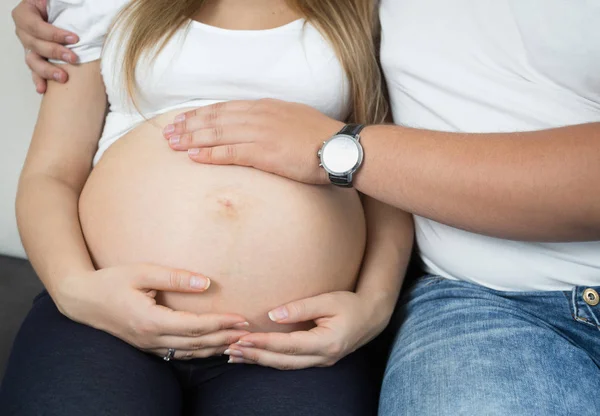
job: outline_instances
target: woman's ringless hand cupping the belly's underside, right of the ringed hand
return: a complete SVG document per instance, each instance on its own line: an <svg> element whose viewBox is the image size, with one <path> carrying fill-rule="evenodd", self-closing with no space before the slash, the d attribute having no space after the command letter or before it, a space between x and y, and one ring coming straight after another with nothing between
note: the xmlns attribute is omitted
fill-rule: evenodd
<svg viewBox="0 0 600 416"><path fill-rule="evenodd" d="M333 292L277 308L269 313L281 324L314 321L309 331L254 333L225 351L230 363L259 364L279 370L329 367L383 331L389 314L353 292Z"/></svg>

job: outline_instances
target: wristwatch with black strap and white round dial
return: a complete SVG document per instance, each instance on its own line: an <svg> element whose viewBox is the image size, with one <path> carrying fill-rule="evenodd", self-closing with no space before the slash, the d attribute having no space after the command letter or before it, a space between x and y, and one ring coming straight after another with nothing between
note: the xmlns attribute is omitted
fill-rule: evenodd
<svg viewBox="0 0 600 416"><path fill-rule="evenodd" d="M331 139L323 142L317 153L320 167L329 174L332 184L352 188L352 176L363 162L364 152L360 144L362 124L347 124Z"/></svg>

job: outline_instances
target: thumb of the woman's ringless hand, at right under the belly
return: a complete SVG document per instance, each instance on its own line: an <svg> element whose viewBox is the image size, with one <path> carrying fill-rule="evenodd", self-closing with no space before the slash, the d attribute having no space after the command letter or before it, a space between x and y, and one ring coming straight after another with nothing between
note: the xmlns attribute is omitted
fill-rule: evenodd
<svg viewBox="0 0 600 416"><path fill-rule="evenodd" d="M269 318L280 324L294 324L312 321L331 314L331 297L325 294L280 306L269 312Z"/></svg>

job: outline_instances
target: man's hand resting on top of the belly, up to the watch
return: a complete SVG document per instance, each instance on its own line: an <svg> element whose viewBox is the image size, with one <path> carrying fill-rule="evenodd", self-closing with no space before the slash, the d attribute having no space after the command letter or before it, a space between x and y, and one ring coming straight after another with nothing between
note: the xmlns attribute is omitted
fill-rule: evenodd
<svg viewBox="0 0 600 416"><path fill-rule="evenodd" d="M229 101L181 114L164 136L198 163L251 166L309 184L329 184L317 152L344 123L307 105Z"/></svg>

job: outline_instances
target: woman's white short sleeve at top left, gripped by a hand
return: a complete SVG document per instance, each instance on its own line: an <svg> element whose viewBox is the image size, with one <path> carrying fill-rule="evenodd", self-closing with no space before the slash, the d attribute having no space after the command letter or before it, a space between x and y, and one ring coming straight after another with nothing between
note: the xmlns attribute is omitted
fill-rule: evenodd
<svg viewBox="0 0 600 416"><path fill-rule="evenodd" d="M104 39L115 17L130 0L48 0L48 22L73 32L79 42L71 48L81 63L100 58Z"/></svg>

